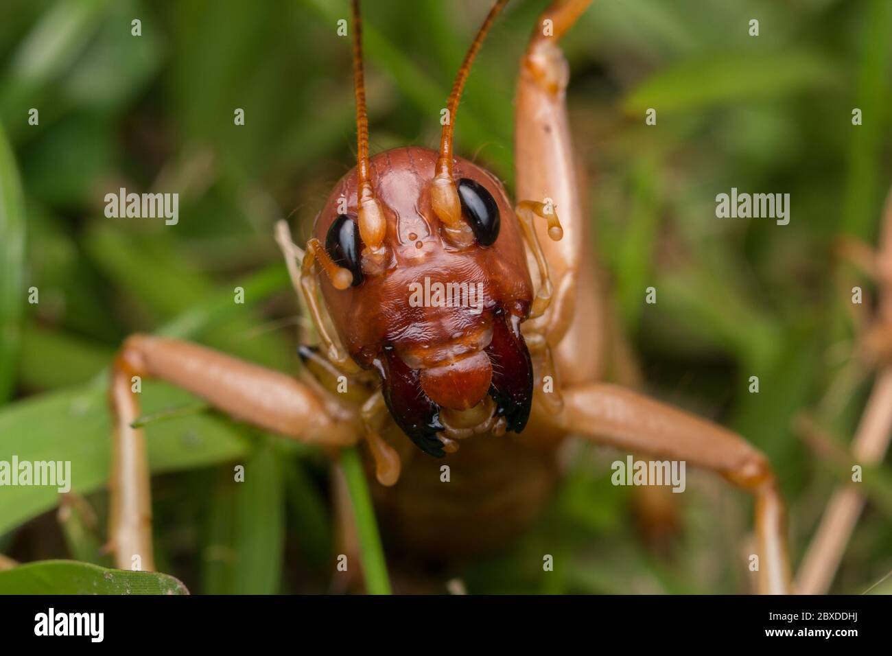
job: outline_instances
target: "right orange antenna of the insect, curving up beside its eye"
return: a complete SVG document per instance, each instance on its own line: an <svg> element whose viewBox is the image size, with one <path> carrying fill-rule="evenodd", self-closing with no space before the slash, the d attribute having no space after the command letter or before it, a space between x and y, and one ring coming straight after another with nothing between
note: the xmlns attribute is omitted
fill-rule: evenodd
<svg viewBox="0 0 892 656"><path fill-rule="evenodd" d="M496 17L506 4L508 4L508 0L496 0L496 3L492 5L492 9L486 15L486 20L483 21L483 25L477 31L474 42L467 49L465 61L461 62L461 68L458 69L455 82L452 83L452 92L449 95L449 102L446 106L447 120L443 124L440 137L440 155L437 157L434 179L431 181L431 206L434 209L434 213L442 221L446 236L454 244L460 246L472 244L474 242L474 234L467 222L461 219L461 203L458 200L458 189L455 186L455 180L452 179L452 134L455 130L455 114L458 111L458 101L461 100L461 92L465 88L465 81L471 72L471 65L474 63L475 55L480 50L483 39L492 27L492 23L495 22Z"/></svg>

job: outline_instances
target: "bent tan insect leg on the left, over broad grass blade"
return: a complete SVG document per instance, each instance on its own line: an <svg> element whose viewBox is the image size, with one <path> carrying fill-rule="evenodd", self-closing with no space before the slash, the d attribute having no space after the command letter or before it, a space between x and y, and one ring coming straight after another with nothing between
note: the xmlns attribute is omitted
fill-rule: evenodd
<svg viewBox="0 0 892 656"><path fill-rule="evenodd" d="M335 413L301 382L202 346L164 337L135 335L121 348L111 372L113 413L109 544L115 563L154 569L152 502L133 378L161 378L206 399L214 407L260 428L329 446L355 444L361 428L346 408Z"/></svg>

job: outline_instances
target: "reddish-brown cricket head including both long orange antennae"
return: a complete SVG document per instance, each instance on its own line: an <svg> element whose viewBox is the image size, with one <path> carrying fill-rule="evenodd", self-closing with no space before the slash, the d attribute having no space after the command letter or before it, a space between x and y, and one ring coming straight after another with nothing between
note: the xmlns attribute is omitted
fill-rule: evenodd
<svg viewBox="0 0 892 656"><path fill-rule="evenodd" d="M533 365L520 332L533 303L523 236L498 179L452 153L462 88L507 2L493 4L462 62L439 151L370 158L354 0L357 165L314 228L338 336L360 367L378 372L396 424L434 456L475 432L523 430L532 404Z"/></svg>

